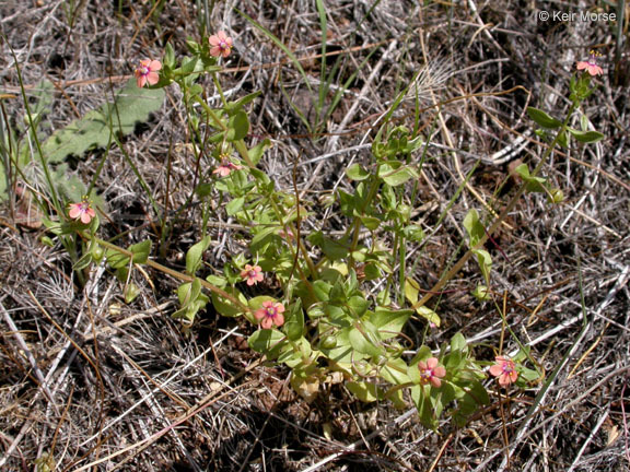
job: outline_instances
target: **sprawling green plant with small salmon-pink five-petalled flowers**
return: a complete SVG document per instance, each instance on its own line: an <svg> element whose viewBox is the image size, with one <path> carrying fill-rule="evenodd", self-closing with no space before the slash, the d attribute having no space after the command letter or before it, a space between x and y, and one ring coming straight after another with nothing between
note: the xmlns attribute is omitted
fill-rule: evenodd
<svg viewBox="0 0 630 472"><path fill-rule="evenodd" d="M352 191L338 189L312 201L301 197L295 182L291 191L280 189L258 167L269 142L248 145L246 140L247 105L259 93L228 101L221 91L217 72L232 47L232 39L219 32L201 44L189 40L189 56L180 60L167 46L162 61L143 60L136 71L137 86L179 87L192 149L206 169L199 175L195 193L203 221L198 241L186 253L185 272L152 260L153 243L149 239L127 248L101 239L100 219L88 198L74 202L60 224L50 225L57 234L78 234L83 241L83 256L74 269L81 271L105 258L125 283L128 302L138 294L129 282L130 273L142 264L177 278L182 283L175 318L190 327L208 304L224 317L245 318L258 327L248 339L249 347L269 363L288 366L292 387L306 400L314 399L323 384L342 382L366 402L388 400L401 408L410 398L420 421L436 428L443 415L464 425L490 402L486 371L504 388L526 387L539 379L535 359L513 333L522 346L515 356L510 358L501 354L502 346L495 346L495 359L482 359L476 357L462 333L432 350L427 344L413 345L405 329L411 319L440 326L439 314L427 302L471 257L485 281L474 294L479 300L492 298L492 258L485 248L490 235L524 192L544 192L551 203L562 201L562 191L541 176L557 146L603 138L587 129L585 119L580 130L569 126L581 102L593 93L591 78L599 72L596 63L579 64L585 72L571 80L571 106L563 119L527 109L539 126L536 133L547 143L546 151L533 169L525 164L516 168L522 185L498 216L468 212L462 222L467 251L420 297L420 286L406 273L405 260L407 246L422 244L425 236L413 223L406 189L419 178L422 161L415 155L427 145L425 138L405 126L385 122L374 138L371 162L354 164L346 172ZM219 107L211 107L203 98L198 83L203 74L212 76L222 97ZM222 269L208 274L203 255L211 244L206 229L211 196L224 202L222 211L248 234L247 250L232 255ZM304 221L315 216L320 206L340 215L346 224L340 236L325 227L307 234L303 231ZM373 286L382 287L376 294L368 290L373 282L377 282ZM248 296L245 287L260 287L260 295Z"/></svg>

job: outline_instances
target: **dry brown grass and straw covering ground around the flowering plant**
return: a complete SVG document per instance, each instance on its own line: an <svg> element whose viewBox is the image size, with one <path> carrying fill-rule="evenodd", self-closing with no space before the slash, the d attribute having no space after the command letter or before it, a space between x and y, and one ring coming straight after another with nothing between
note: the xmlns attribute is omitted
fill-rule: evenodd
<svg viewBox="0 0 630 472"><path fill-rule="evenodd" d="M19 93L10 46L28 94L42 78L55 81L49 119L52 129L60 128L110 96L120 82L108 78L128 75L138 58L160 57L167 40L185 54L186 37L199 37L202 3L168 0L153 12L150 1L0 4L0 92ZM223 87L235 97L262 91L252 109L252 134L270 137L275 145L261 165L291 192L287 169L300 156L300 189L315 201L318 191L348 185L339 179L350 163L368 162L365 144L374 126L421 71L417 96L410 94L394 119L412 127L418 99L424 109L419 126L433 127L415 202L415 217L430 237L423 247L410 248L413 276L423 287L435 283L457 250L468 209L491 201L510 163L536 163L541 154L541 143L527 131L525 107L561 115L574 61L593 45L609 59L599 91L585 105L607 139L555 153L545 174L563 189L564 204L550 208L539 194L524 197L508 222L511 228L494 238L501 251L489 247L492 288L505 304L510 327L545 367L545 382L508 397L495 392L492 405L468 427L444 423L441 433L422 428L411 410L361 404L339 386L324 387L308 404L291 391L288 370L260 365L247 350L247 323L221 319L209 307L183 330L170 317L176 283L159 273L149 274L154 290L137 274L141 296L130 305L102 267L80 290L67 255L40 244L40 231L15 227L5 205L0 469L34 470L38 463L44 471L48 463L49 470L69 471L630 470L623 418L630 406L630 57L622 51L614 70L612 27L540 22L534 2L516 0L422 8L394 0L326 3L328 50L335 54L326 60L331 66L339 58L327 99L358 73L319 134L308 135L294 110L317 121L313 103L322 59L314 57L320 50L314 2L217 2L211 24L228 31L236 45ZM235 5L298 57L311 57L303 67L313 93L281 50L232 10ZM627 28L630 10L625 14ZM168 94L162 113L124 145L155 200L176 209L192 191L195 163L185 145L180 97ZM438 103L442 106L434 107ZM3 104L13 122L22 119L19 98ZM102 152L78 162L74 172L83 181ZM105 231L128 232L129 244L154 236L148 223L155 223L155 215L117 148L109 152L98 190L112 220ZM305 229L325 217L329 227L340 224L335 215L319 216L305 222ZM182 253L195 241L195 221L200 221L198 209L190 208L176 222L164 247L165 263L182 267ZM208 262L217 267L242 250L237 229L226 223L219 220L212 229ZM478 355L490 359L501 319L492 304L468 295L478 281L477 269L466 267L448 286L453 292L432 303L443 327L430 341L438 345L462 331L477 343ZM421 329L410 327L409 335ZM505 338L503 350L515 349Z"/></svg>

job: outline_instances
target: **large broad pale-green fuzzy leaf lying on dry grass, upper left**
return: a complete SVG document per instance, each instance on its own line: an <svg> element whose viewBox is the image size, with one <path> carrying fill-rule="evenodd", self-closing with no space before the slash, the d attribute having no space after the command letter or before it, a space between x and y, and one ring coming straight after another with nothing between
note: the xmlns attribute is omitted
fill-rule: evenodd
<svg viewBox="0 0 630 472"><path fill-rule="evenodd" d="M136 123L144 122L158 111L164 102L162 88L139 88L131 79L114 103L88 111L66 128L56 131L43 144L42 150L49 164L59 163L70 154L82 156L92 148L105 148L113 133L129 134Z"/></svg>

